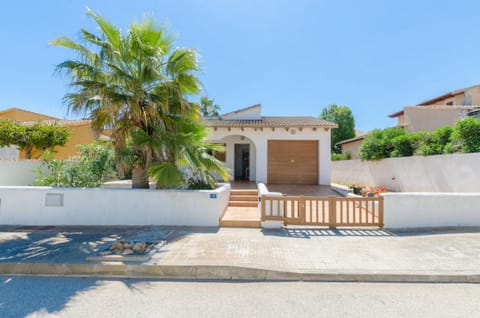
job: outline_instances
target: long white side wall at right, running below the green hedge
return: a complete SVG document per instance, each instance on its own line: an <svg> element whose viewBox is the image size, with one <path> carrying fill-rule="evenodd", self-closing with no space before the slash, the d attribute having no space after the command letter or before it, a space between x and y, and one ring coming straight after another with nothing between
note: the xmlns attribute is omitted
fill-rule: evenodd
<svg viewBox="0 0 480 318"><path fill-rule="evenodd" d="M333 161L332 181L401 192L480 192L480 153Z"/></svg>

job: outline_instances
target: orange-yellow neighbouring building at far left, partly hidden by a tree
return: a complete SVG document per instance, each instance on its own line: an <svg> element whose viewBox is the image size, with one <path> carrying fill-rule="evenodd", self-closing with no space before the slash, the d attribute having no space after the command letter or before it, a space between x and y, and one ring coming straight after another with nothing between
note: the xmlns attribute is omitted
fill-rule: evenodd
<svg viewBox="0 0 480 318"><path fill-rule="evenodd" d="M65 146L55 147L56 153L54 158L56 159L66 159L68 157L75 156L77 155L77 145L90 144L93 141L103 137L103 135L95 133L91 127L90 120L61 120L59 118L38 114L19 108L9 108L0 111L0 120L2 119L8 119L26 124L44 122L52 125L57 124L60 126L67 126L71 131L71 135ZM38 157L39 155L39 152L33 153L33 157ZM13 157L16 159L24 159L25 154L23 152L19 152L15 147L0 149L0 159L13 159Z"/></svg>

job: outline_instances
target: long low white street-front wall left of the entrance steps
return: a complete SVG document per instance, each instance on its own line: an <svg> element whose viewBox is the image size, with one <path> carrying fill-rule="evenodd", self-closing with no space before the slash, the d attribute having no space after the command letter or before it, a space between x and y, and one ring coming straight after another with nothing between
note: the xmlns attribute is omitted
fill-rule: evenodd
<svg viewBox="0 0 480 318"><path fill-rule="evenodd" d="M46 206L47 194L63 195L63 206ZM0 187L0 224L218 226L229 195L229 184L215 190Z"/></svg>

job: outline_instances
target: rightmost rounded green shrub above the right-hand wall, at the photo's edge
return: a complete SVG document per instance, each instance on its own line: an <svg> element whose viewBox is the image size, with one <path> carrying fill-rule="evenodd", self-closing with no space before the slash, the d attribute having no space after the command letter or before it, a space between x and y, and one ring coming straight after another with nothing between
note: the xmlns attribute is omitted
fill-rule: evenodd
<svg viewBox="0 0 480 318"><path fill-rule="evenodd" d="M452 139L462 152L480 152L480 120L475 117L459 120L455 124Z"/></svg>

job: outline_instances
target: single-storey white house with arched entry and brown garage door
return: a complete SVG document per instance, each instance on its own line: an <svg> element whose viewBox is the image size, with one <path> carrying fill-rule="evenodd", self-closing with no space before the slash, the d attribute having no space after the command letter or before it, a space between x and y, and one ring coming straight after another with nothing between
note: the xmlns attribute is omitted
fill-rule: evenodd
<svg viewBox="0 0 480 318"><path fill-rule="evenodd" d="M204 118L211 141L226 147L217 158L232 179L270 184L330 184L330 132L315 117L264 117L254 105Z"/></svg>

